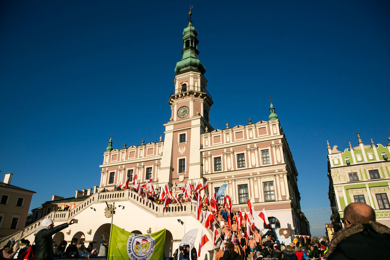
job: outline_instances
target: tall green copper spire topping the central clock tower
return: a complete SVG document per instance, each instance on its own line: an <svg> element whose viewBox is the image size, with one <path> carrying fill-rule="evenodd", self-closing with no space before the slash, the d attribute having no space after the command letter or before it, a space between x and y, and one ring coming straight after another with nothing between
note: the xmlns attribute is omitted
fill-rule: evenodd
<svg viewBox="0 0 390 260"><path fill-rule="evenodd" d="M195 27L192 26L191 15L192 12L188 13L190 18L188 18L188 26L183 30L183 39L181 42L183 43L183 50L181 50L181 54L183 58L181 61L176 63L175 72L180 73L181 71L187 69L195 69L200 71L200 73L204 74L206 72L206 68L203 66L202 62L198 59L198 43L197 39L198 32L195 30Z"/></svg>

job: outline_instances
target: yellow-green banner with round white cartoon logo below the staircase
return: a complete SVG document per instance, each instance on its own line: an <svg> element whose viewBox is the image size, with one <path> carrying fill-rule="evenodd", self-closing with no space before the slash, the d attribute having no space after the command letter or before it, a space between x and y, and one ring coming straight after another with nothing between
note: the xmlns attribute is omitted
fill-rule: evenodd
<svg viewBox="0 0 390 260"><path fill-rule="evenodd" d="M139 235L112 225L108 260L160 260L164 258L165 228Z"/></svg>

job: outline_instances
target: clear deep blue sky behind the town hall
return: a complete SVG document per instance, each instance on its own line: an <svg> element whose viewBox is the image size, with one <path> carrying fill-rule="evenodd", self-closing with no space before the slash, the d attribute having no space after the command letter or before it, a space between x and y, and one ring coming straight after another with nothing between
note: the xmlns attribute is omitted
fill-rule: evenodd
<svg viewBox="0 0 390 260"><path fill-rule="evenodd" d="M188 9L1 1L0 179L13 173L12 184L36 191L31 209L99 185L111 131L114 148L163 135ZM326 140L343 150L360 132L388 143L389 2L198 1L192 11L211 124L268 120L273 96L301 207L329 207Z"/></svg>

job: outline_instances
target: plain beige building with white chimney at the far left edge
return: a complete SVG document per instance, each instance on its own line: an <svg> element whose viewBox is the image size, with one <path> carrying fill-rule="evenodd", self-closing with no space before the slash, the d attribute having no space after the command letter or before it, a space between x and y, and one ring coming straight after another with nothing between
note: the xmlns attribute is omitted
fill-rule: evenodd
<svg viewBox="0 0 390 260"><path fill-rule="evenodd" d="M12 173L0 182L0 237L9 236L25 227L31 197L35 191L11 185Z"/></svg>

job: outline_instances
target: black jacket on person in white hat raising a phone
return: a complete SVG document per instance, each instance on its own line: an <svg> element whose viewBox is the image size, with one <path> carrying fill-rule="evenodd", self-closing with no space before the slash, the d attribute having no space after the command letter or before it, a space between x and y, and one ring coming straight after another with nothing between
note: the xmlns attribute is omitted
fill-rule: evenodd
<svg viewBox="0 0 390 260"><path fill-rule="evenodd" d="M41 226L35 233L34 260L53 260L52 236L68 226L68 223L64 223L50 229Z"/></svg>

